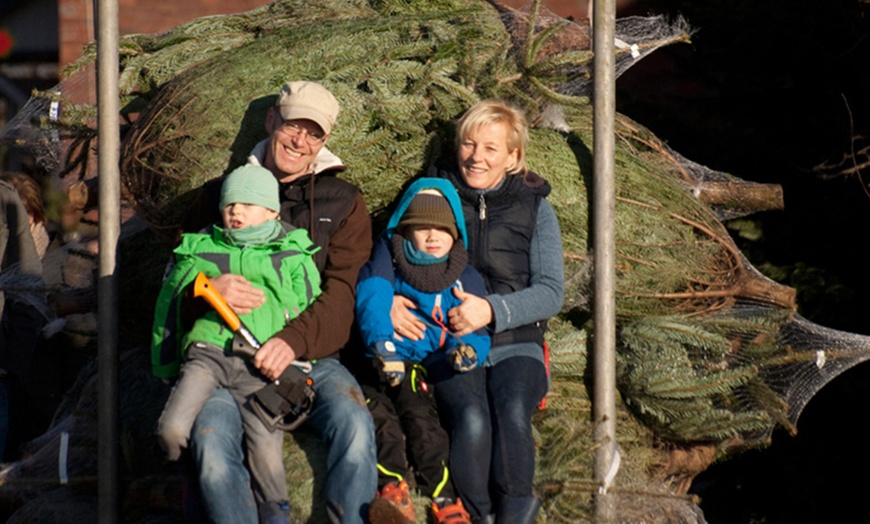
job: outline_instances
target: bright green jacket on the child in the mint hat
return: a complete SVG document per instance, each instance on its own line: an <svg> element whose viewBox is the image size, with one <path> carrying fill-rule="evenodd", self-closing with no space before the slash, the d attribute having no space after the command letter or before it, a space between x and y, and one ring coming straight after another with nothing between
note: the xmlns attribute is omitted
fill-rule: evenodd
<svg viewBox="0 0 870 524"><path fill-rule="evenodd" d="M266 302L242 322L260 342L280 331L320 295L320 273L311 255L318 251L304 229L282 223L286 235L261 245L241 248L212 226L209 233L186 233L175 249L175 265L163 283L154 314L151 365L160 378L178 375L192 342L208 342L229 351L233 333L213 310L183 332L181 294L202 271L207 277L242 275L263 290Z"/></svg>

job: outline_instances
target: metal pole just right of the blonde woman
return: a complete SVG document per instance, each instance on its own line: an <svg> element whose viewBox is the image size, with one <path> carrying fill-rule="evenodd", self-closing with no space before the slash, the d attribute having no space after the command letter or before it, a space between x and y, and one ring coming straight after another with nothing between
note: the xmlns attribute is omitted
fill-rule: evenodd
<svg viewBox="0 0 870 524"><path fill-rule="evenodd" d="M607 488L618 462L616 453L616 308L614 228L614 120L616 78L614 36L616 3L594 0L592 10L593 79L593 260L594 301L594 391L595 421L595 520L615 522L616 508Z"/></svg>

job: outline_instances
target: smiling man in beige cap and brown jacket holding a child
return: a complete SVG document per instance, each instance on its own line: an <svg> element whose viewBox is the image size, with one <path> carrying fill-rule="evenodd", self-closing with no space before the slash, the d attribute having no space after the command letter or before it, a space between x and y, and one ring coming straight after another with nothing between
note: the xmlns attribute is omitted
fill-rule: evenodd
<svg viewBox="0 0 870 524"><path fill-rule="evenodd" d="M374 427L359 385L338 354L350 337L357 276L371 253L372 231L362 193L336 176L346 167L326 148L338 113L338 101L322 85L287 82L266 113L269 136L248 157L248 163L278 179L281 219L308 230L320 246L315 262L323 281L314 304L264 343L253 364L276 379L295 359L313 363L317 397L304 427L329 445L324 502L333 522L356 523L364 522L377 490ZM186 214L185 231L215 221L219 187L220 179L203 187ZM262 290L239 275L227 272L212 282L239 314L264 303ZM228 392L218 390L191 435L204 506L213 522L258 522L251 490L239 489L249 485L242 434L238 407ZM259 522L283 513L259 509Z"/></svg>

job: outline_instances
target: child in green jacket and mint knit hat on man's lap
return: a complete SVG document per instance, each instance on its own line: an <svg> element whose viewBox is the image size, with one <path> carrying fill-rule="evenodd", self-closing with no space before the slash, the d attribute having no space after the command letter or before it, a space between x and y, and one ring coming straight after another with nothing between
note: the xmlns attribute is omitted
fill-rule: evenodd
<svg viewBox="0 0 870 524"><path fill-rule="evenodd" d="M284 432L268 427L248 403L269 380L249 359L232 353L233 332L217 312L209 309L185 329L180 311L182 295L199 272L207 277L240 274L264 291L266 302L240 315L262 342L314 302L320 294L320 273L312 258L317 248L304 229L278 220L279 206L278 181L269 170L245 165L226 177L220 200L223 227L215 224L201 233L187 233L175 249L175 265L157 300L152 366L160 378L178 373L157 427L167 458L179 459L203 404L215 389L227 388L242 412L261 512L288 508L289 520Z"/></svg>

